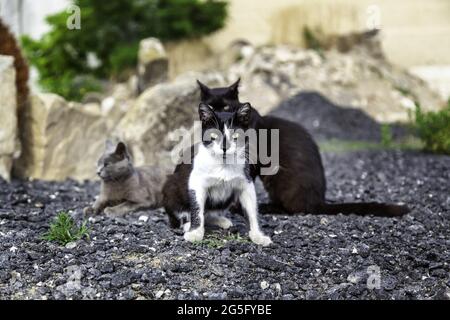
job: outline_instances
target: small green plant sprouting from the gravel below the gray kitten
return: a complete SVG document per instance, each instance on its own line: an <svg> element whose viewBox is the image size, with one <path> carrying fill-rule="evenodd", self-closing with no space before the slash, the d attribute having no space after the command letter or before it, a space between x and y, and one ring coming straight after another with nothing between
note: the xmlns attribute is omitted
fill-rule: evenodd
<svg viewBox="0 0 450 320"><path fill-rule="evenodd" d="M87 222L83 221L80 226L77 226L67 212L60 211L50 223L50 229L44 234L43 239L65 246L69 242L80 240L83 237L89 239Z"/></svg>

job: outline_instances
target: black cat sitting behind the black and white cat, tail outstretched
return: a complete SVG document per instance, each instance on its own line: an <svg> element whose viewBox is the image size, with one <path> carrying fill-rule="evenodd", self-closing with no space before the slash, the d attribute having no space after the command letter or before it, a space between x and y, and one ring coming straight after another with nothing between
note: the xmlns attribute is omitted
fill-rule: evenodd
<svg viewBox="0 0 450 320"><path fill-rule="evenodd" d="M215 111L233 110L233 106L239 102L239 80L224 88L208 88L200 81L198 84L201 101ZM255 109L252 109L250 122L256 129L279 130L278 172L275 175L260 175L263 165L257 163L252 170L252 178L259 175L273 204L287 213L354 213L394 217L409 212L404 205L378 202L326 203L322 159L311 135L297 123L273 116L261 116ZM270 139L268 143L270 144Z"/></svg>

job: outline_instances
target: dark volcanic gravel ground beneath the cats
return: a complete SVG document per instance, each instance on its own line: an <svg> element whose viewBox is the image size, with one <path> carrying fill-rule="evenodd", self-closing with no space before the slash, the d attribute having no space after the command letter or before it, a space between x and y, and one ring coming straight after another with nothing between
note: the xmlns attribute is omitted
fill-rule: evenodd
<svg viewBox="0 0 450 320"><path fill-rule="evenodd" d="M0 299L449 299L450 157L358 152L324 162L328 198L402 201L411 214L263 215L274 244L261 248L240 216L231 231L242 238L194 245L161 210L141 211L97 217L90 240L61 247L41 235L59 210L80 220L98 185L1 181ZM367 285L377 286L371 270L378 289Z"/></svg>

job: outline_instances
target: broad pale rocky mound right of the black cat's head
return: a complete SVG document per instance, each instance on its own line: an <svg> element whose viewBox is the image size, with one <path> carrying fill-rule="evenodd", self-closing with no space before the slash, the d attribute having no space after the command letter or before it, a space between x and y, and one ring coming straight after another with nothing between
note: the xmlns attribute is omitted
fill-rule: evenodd
<svg viewBox="0 0 450 320"><path fill-rule="evenodd" d="M290 46L255 48L230 67L228 82L241 77L241 100L252 102L262 114L305 90L317 91L335 104L364 110L381 122L409 121L416 102L425 111L445 105L424 81L374 52L363 44L346 53Z"/></svg>

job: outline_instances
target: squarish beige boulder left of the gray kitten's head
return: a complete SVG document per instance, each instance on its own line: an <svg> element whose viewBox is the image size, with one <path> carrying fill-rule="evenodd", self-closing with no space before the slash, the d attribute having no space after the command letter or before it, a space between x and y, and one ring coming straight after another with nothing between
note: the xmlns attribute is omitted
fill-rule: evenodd
<svg viewBox="0 0 450 320"><path fill-rule="evenodd" d="M98 104L67 103L55 94L31 97L21 124L19 177L45 180L95 178L95 164L107 137Z"/></svg>

